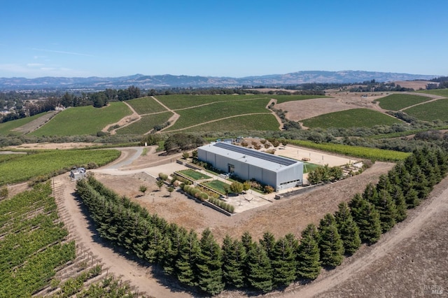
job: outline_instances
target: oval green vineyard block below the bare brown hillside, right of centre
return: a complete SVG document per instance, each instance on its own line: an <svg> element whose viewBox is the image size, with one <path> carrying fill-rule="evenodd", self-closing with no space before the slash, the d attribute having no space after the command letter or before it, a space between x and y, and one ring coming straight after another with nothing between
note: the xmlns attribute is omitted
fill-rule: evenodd
<svg viewBox="0 0 448 298"><path fill-rule="evenodd" d="M374 127L375 125L393 125L400 120L367 108L353 108L351 110L333 112L303 120L306 127Z"/></svg>

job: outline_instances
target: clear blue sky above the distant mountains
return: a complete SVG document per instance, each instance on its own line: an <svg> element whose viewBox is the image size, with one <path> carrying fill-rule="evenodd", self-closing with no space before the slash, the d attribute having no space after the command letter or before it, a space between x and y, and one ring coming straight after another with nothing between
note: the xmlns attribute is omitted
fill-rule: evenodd
<svg viewBox="0 0 448 298"><path fill-rule="evenodd" d="M1 1L0 77L447 76L448 1Z"/></svg>

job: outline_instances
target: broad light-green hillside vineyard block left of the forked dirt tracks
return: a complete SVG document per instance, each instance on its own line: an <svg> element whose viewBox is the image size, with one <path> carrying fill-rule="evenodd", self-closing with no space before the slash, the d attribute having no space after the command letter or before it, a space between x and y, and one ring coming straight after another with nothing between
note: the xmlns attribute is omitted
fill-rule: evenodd
<svg viewBox="0 0 448 298"><path fill-rule="evenodd" d="M109 106L94 108L79 106L67 108L55 115L43 127L31 132L34 136L73 136L96 134L106 125L118 122L132 112L123 102L111 102Z"/></svg>

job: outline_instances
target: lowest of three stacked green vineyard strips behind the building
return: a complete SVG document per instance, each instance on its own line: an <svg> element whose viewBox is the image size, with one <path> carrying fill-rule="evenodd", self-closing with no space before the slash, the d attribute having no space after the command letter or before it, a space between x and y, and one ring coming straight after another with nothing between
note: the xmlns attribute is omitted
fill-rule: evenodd
<svg viewBox="0 0 448 298"><path fill-rule="evenodd" d="M244 115L185 129L183 132L232 132L241 130L278 131L279 122L272 114Z"/></svg>

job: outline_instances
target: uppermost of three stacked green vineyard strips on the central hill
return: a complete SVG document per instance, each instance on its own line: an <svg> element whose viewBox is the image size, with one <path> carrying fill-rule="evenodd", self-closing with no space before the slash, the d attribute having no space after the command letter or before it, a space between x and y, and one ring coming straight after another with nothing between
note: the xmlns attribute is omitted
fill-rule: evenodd
<svg viewBox="0 0 448 298"><path fill-rule="evenodd" d="M265 95L162 95L156 97L165 106L172 110L179 110L180 108L191 108L193 106L200 106L203 104L212 104L218 101L241 101L245 99L266 99ZM266 101L266 102L269 102Z"/></svg>

